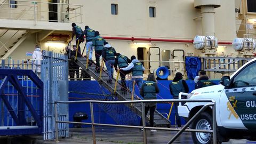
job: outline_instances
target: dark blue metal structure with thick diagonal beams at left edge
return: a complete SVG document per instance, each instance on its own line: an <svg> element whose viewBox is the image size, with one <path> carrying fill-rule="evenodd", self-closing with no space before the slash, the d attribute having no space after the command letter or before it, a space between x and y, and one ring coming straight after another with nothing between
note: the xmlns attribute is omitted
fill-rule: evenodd
<svg viewBox="0 0 256 144"><path fill-rule="evenodd" d="M0 77L0 135L42 133L42 81L31 70L12 67L2 67Z"/></svg>

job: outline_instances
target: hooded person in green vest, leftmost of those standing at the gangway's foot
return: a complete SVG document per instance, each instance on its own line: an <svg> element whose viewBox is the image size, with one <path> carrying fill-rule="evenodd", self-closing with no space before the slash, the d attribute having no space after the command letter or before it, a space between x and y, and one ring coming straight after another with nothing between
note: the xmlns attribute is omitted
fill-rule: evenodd
<svg viewBox="0 0 256 144"><path fill-rule="evenodd" d="M148 79L145 83L142 84L140 89L140 95L145 99L156 99L156 94L159 93L159 89L156 83L156 79L153 74L148 75ZM156 108L156 102L145 103L145 117L148 114L148 110L150 110L150 126L154 126L154 112ZM142 126L142 118L140 120L140 125ZM154 131L154 130L151 130Z"/></svg>

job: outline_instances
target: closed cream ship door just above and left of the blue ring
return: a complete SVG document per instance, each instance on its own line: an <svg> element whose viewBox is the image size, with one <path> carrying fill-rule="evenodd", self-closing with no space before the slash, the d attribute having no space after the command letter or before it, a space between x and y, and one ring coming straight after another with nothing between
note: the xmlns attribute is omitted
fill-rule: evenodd
<svg viewBox="0 0 256 144"><path fill-rule="evenodd" d="M159 47L149 47L149 68L150 73L161 66L160 63L160 49Z"/></svg>

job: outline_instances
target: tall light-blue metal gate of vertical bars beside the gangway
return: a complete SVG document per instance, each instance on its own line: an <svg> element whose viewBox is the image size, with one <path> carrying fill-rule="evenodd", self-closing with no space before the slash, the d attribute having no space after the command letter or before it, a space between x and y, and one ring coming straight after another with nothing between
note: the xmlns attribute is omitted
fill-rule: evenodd
<svg viewBox="0 0 256 144"><path fill-rule="evenodd" d="M44 140L55 138L54 101L68 101L68 57L43 51L41 79L44 83ZM68 121L68 106L58 105L59 121ZM59 124L59 137L68 137L68 124Z"/></svg>

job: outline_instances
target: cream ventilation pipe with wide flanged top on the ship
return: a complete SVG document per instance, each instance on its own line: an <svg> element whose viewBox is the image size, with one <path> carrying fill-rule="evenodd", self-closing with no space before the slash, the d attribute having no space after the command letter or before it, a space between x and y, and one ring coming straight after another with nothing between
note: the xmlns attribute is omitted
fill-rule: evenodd
<svg viewBox="0 0 256 144"><path fill-rule="evenodd" d="M214 8L220 7L220 0L194 0L194 6L201 9L203 35L215 36Z"/></svg>

